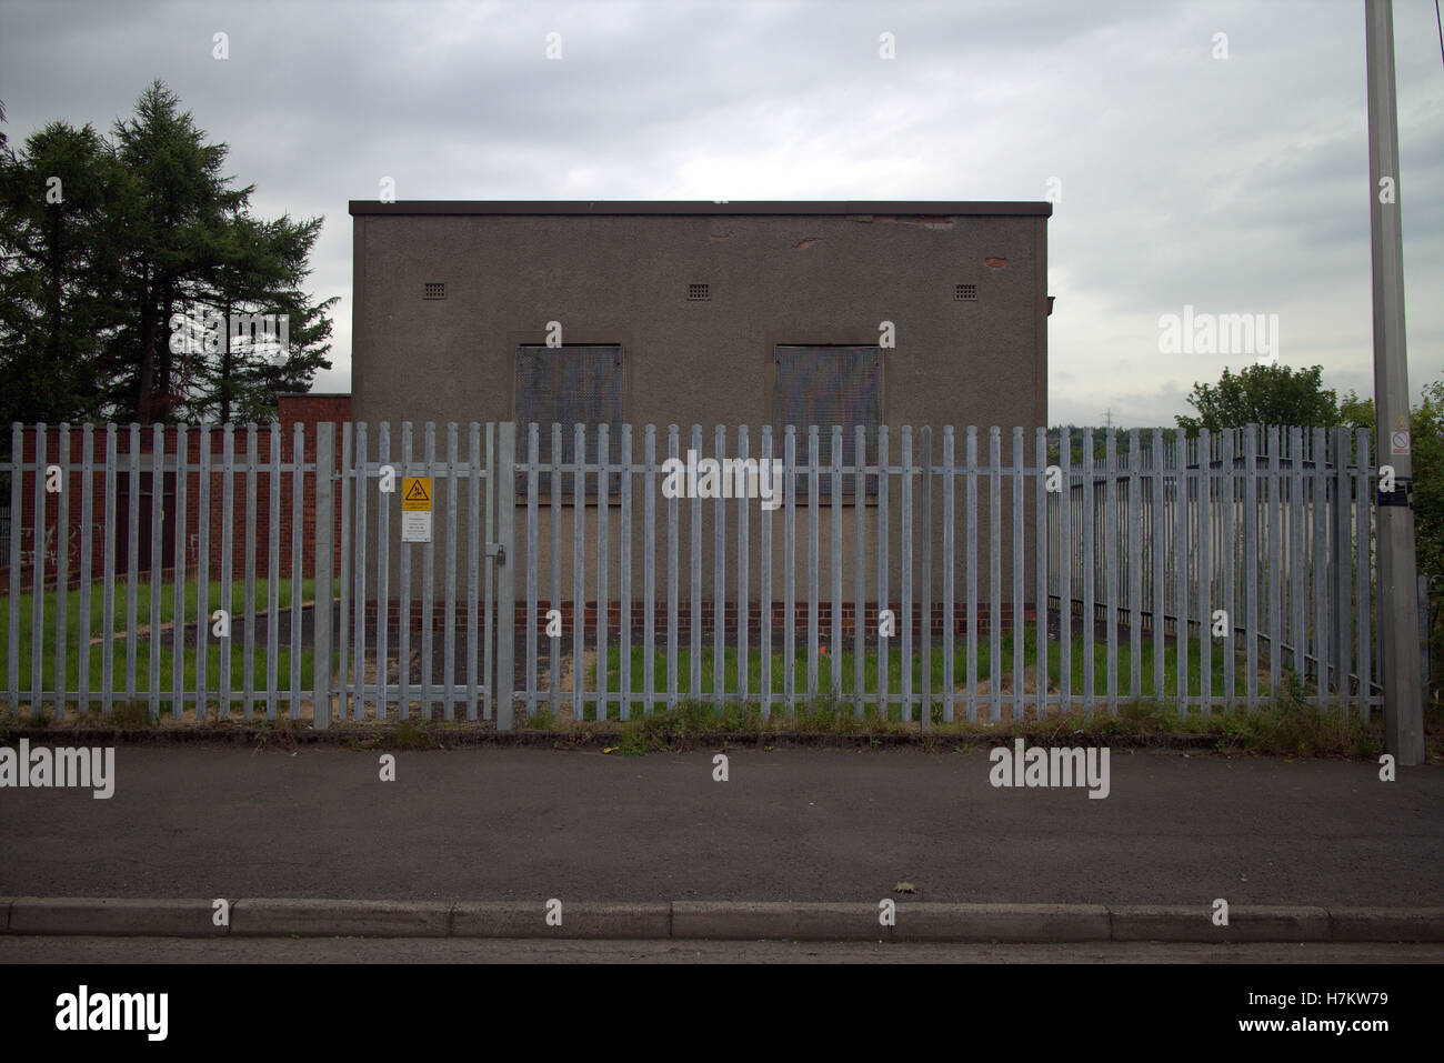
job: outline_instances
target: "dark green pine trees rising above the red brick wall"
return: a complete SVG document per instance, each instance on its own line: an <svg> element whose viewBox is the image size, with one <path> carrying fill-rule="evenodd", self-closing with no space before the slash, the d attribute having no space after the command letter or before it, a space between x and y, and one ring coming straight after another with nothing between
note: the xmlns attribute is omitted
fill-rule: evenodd
<svg viewBox="0 0 1444 1063"><path fill-rule="evenodd" d="M0 150L0 423L269 420L329 368L338 300L303 287L321 220L253 217L227 150L160 81L110 139L53 123ZM208 313L219 342L188 335ZM253 315L269 339L234 335Z"/></svg>

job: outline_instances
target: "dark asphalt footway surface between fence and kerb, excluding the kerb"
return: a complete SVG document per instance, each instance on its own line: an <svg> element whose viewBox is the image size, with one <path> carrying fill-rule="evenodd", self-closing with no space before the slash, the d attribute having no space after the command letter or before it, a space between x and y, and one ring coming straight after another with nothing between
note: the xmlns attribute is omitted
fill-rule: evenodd
<svg viewBox="0 0 1444 1063"><path fill-rule="evenodd" d="M120 747L116 794L0 790L0 895L1444 904L1444 770L986 754ZM913 894L891 894L900 881Z"/></svg>

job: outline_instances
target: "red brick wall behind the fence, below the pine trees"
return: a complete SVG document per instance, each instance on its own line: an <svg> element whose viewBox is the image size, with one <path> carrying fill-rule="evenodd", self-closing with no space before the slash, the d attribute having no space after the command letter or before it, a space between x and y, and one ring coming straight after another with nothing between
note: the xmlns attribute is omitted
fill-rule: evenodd
<svg viewBox="0 0 1444 1063"><path fill-rule="evenodd" d="M321 422L347 422L351 419L351 396L347 394L282 394L277 397L279 412L277 420L280 423L280 459L282 462L290 462L292 446L295 441L296 425L302 426L305 438L305 461L313 462L316 459L316 425ZM84 433L78 426L69 429L69 446L71 446L71 465L78 467L82 459L84 448ZM150 455L153 448L152 441L153 428L144 426L140 429L140 517L139 517L139 560L142 572L149 572L150 569L150 504L152 504L152 485L150 485ZM339 426L336 429L339 438ZM173 425L165 426L165 452L169 455L168 461L173 462L173 455L176 454L179 430ZM61 454L61 428L46 426L45 429L45 461L46 464L58 462ZM218 426L211 426L211 461L212 464L219 464L222 448L222 433ZM245 471L244 471L244 456L247 452L247 435L245 426L235 426L235 472L232 474L232 491L234 491L234 510L232 510L232 530L235 534L235 542L232 546L231 557L231 573L234 578L243 578L245 573ZM264 469L264 465L270 462L270 426L257 426L256 432L256 451L257 461ZM23 459L26 462L35 461L36 452L36 429L27 428L23 433ZM130 455L130 426L117 425L116 430L116 454L117 454L117 477L116 477L116 504L117 504L117 521L116 521L116 572L123 575L129 563L127 539L129 534L129 455ZM199 461L201 455L201 429L191 425L186 426L186 462L193 465ZM95 425L92 428L92 461L100 471L92 474L92 503L91 503L91 566L97 578L103 572L104 565L104 517L105 517L105 425ZM338 452L338 469L339 469L339 452ZM26 588L30 586L32 565L35 557L35 481L33 472L23 474L22 480L22 513L19 520L12 520L10 534L20 536L20 556L22 556L22 581ZM188 566L195 566L199 562L198 546L199 546L199 513L198 513L198 488L199 488L199 472L191 472L186 478L186 530L185 530L185 550ZM82 474L79 471L72 471L68 477L66 497L66 513L68 513L68 555L69 555L69 581L75 585L79 579L79 549L81 549L81 485ZM211 475L211 507L209 507L209 570L212 578L218 578L224 570L221 559L221 490L224 484L224 474ZM303 557L303 573L309 576L312 573L312 560L315 557L315 530L316 530L316 500L315 500L315 480L310 474L305 477L305 493L302 495L302 557ZM162 511L166 514L163 517L163 532L162 532L162 568L169 570L175 563L175 521L173 521L173 497L175 497L175 475L165 474L165 482L162 490ZM46 495L46 511L45 511L45 543L42 549L45 550L45 576L48 581L55 579L55 550L56 550L56 527L59 523L61 506L56 503L53 495ZM292 474L282 472L280 477L280 491L279 491L279 526L280 526L280 550L279 550L279 575L284 579L290 576L290 562L292 562ZM256 547L256 573L257 576L267 575L269 557L267 557L267 534L270 527L270 477L267 472L260 471L256 478L256 527L258 530L258 543ZM336 513L336 534L339 536L341 529L341 514ZM0 556L0 572L9 572L10 556L9 552ZM339 569L338 569L339 570ZM6 579L6 585L9 581Z"/></svg>

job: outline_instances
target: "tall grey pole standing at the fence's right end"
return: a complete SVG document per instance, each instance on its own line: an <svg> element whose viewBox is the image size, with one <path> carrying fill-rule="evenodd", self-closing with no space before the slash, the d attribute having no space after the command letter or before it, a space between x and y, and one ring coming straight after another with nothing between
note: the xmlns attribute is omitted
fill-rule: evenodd
<svg viewBox="0 0 1444 1063"><path fill-rule="evenodd" d="M1369 231L1373 260L1373 400L1380 465L1395 490L1379 493L1379 646L1385 748L1398 764L1424 763L1419 615L1415 586L1414 462L1404 337L1399 139L1393 98L1393 3L1365 0L1369 81Z"/></svg>

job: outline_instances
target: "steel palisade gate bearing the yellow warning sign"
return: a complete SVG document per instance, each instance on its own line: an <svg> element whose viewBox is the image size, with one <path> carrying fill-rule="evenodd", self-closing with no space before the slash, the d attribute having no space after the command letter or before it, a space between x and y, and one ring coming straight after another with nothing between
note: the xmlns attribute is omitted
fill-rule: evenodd
<svg viewBox="0 0 1444 1063"><path fill-rule="evenodd" d="M491 719L510 729L513 700L498 700L488 677L511 674L513 640L495 633L513 631L498 617L514 612L504 547L514 524L510 508L498 519L494 495L511 482L497 471L516 464L514 428L426 423L416 435L403 422L396 448L388 423L377 425L374 442L368 425L342 426L339 712L351 721ZM393 501L407 478L432 485L425 542L406 542Z"/></svg>

